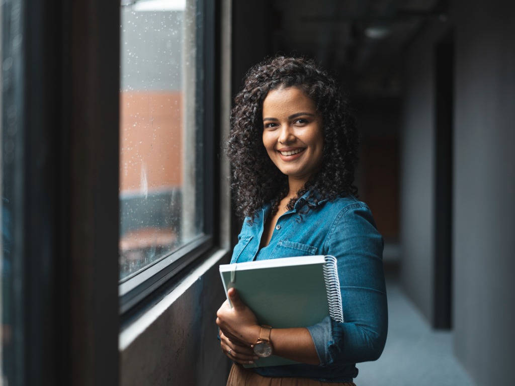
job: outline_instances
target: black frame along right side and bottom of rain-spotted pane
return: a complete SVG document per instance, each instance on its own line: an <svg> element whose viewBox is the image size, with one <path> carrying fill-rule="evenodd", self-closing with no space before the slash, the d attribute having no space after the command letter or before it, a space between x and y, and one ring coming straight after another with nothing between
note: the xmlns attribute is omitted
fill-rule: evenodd
<svg viewBox="0 0 515 386"><path fill-rule="evenodd" d="M214 232L217 212L215 203L219 200L219 184L217 184L219 161L216 156L216 146L219 144L217 122L220 106L219 98L216 97L219 85L215 77L219 71L216 22L219 4L217 3L219 2L196 0L195 23L201 26L201 33L195 36L197 47L195 74L199 78L196 82L195 97L201 103L196 107L195 114L196 130L202 137L203 144L203 151L196 153L196 162L202 166L202 172L197 173L196 176L196 186L203 187L201 192L203 233L152 265L119 282L119 313L122 317L132 314L139 307L148 306L148 302L155 303L159 297L153 295L159 292L162 286L181 277L186 267L202 260L218 244L218 237ZM126 319L128 316L124 318Z"/></svg>

